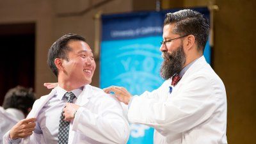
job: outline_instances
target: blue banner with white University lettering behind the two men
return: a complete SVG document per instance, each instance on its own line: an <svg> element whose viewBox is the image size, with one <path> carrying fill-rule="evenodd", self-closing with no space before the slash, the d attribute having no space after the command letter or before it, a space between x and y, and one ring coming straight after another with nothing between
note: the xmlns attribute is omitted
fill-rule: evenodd
<svg viewBox="0 0 256 144"><path fill-rule="evenodd" d="M209 19L207 8L194 8ZM100 49L100 88L124 86L132 95L140 95L158 88L163 79L159 75L165 14L136 12L102 15L102 42ZM209 44L204 56L211 61ZM128 143L153 143L154 129L146 125L131 124Z"/></svg>

